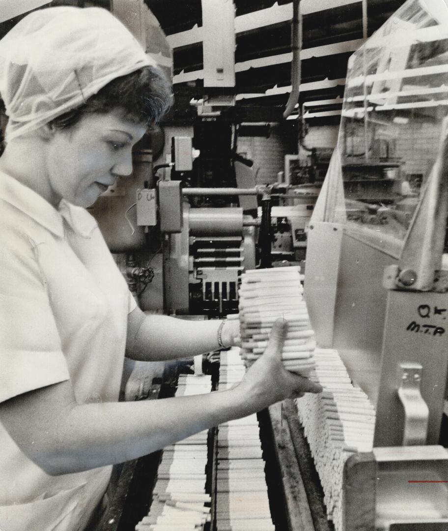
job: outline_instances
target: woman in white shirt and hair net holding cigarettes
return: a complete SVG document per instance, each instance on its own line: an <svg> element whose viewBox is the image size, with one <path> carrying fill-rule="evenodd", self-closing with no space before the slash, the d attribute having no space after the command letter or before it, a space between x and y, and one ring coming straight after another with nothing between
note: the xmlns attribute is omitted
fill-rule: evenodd
<svg viewBox="0 0 448 531"><path fill-rule="evenodd" d="M124 354L230 346L235 324L145 316L84 210L168 106L140 45L100 8L31 13L0 41L0 528L89 526L111 465L320 386L285 371L283 323L235 388L118 402Z"/></svg>

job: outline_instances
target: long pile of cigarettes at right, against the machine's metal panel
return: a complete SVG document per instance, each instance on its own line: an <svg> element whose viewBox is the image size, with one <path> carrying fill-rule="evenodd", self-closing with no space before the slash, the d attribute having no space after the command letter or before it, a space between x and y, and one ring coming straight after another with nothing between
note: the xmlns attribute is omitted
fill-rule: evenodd
<svg viewBox="0 0 448 531"><path fill-rule="evenodd" d="M344 531L344 463L354 452L372 451L375 409L352 384L337 350L316 348L314 359L311 379L324 391L297 399L297 410L321 479L328 517L335 531Z"/></svg>

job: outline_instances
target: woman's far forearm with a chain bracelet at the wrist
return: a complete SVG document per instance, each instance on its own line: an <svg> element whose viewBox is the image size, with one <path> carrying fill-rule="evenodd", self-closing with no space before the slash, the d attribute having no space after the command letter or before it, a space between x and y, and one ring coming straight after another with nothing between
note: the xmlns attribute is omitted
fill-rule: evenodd
<svg viewBox="0 0 448 531"><path fill-rule="evenodd" d="M140 361L161 361L204 354L220 348L220 320L188 321L167 315L145 315L136 308L128 315L126 355ZM238 320L226 321L221 339L225 347L235 344Z"/></svg>

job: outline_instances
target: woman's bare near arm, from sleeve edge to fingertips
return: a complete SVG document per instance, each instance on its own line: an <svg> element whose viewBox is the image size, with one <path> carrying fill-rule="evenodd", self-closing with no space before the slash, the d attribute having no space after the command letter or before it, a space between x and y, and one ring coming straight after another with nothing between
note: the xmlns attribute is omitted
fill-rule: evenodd
<svg viewBox="0 0 448 531"><path fill-rule="evenodd" d="M283 369L284 336L279 320L263 356L227 391L80 405L65 381L3 402L0 422L25 455L50 475L134 459L302 391L321 391Z"/></svg>

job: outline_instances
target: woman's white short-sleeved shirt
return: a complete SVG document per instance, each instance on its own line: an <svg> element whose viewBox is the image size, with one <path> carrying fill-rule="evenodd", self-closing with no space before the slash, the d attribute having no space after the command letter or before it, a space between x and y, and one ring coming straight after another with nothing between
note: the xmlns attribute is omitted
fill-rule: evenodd
<svg viewBox="0 0 448 531"><path fill-rule="evenodd" d="M134 308L90 214L0 173L0 402L68 379L80 403L117 401ZM110 472L48 476L0 424L0 529L84 529Z"/></svg>

